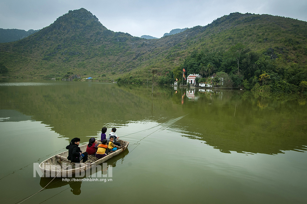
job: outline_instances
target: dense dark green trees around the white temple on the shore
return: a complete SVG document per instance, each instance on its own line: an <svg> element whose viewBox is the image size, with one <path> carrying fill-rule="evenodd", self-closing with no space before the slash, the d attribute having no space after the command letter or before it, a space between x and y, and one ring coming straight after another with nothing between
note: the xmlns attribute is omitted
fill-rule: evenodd
<svg viewBox="0 0 307 204"><path fill-rule="evenodd" d="M240 51L237 51L238 47ZM225 52L193 51L173 72L179 76L182 72L178 70L185 69L187 74L198 73L203 77L222 72L223 76L219 74L219 77L227 77L224 87L251 89L257 84L257 87L269 85L271 91L304 90L301 83L307 80L306 65L287 60L287 55L283 53L284 50L279 47L254 52L238 43ZM206 80L200 80L203 81Z"/></svg>

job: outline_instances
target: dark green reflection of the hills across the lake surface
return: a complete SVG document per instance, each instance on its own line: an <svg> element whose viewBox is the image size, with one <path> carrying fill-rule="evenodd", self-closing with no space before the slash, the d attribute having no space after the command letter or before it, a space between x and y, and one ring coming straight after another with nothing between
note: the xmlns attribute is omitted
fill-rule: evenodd
<svg viewBox="0 0 307 204"><path fill-rule="evenodd" d="M118 84L46 84L1 88L2 121L18 111L27 117L18 120L42 121L69 141L87 141L104 126L125 135L120 129L131 121L163 124L186 115L169 128L225 153L278 154L307 145L306 99L298 95L181 87L156 87L152 95L146 87Z"/></svg>

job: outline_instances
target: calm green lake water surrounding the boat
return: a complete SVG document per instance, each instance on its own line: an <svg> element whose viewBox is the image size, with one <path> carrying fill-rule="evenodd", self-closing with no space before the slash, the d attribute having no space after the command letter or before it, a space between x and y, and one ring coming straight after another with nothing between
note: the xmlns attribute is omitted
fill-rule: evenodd
<svg viewBox="0 0 307 204"><path fill-rule="evenodd" d="M0 200L18 203L51 179L33 163L117 128L128 150L112 181L55 179L22 203L306 203L307 104L297 95L0 81ZM35 173L35 171L34 171ZM97 171L91 178L106 175Z"/></svg>

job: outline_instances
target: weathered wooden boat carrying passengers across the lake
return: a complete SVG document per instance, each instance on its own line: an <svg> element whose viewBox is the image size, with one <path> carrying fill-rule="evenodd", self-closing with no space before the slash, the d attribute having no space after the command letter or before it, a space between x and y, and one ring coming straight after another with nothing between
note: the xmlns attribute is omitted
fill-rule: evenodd
<svg viewBox="0 0 307 204"><path fill-rule="evenodd" d="M100 139L97 142L101 144ZM74 163L67 159L68 151L64 151L40 163L39 168L45 177L72 177L73 175L80 175L82 172L96 167L127 149L129 142L121 139L118 139L117 142L120 143L121 147L101 159L97 159L95 155L88 155L85 163L82 163L82 161L80 163ZM87 144L79 146L80 150L85 152L86 146Z"/></svg>

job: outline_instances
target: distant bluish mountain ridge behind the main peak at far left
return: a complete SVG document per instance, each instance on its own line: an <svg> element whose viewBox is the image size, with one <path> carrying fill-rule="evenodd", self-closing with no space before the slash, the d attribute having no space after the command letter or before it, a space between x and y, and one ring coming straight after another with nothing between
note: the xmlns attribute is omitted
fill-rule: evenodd
<svg viewBox="0 0 307 204"><path fill-rule="evenodd" d="M39 30L19 30L19 29L2 29L0 28L0 43L13 42L28 37Z"/></svg>

